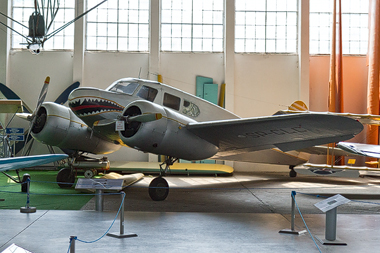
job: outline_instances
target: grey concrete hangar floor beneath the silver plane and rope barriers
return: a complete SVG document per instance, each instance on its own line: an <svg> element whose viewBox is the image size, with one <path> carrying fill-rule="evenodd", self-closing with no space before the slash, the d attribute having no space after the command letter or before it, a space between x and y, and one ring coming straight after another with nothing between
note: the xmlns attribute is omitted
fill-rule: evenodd
<svg viewBox="0 0 380 253"><path fill-rule="evenodd" d="M235 174L232 177L167 177L167 200L151 201L145 177L125 190L125 233L94 243L76 241L75 252L374 252L380 248L380 178L289 178L287 173ZM347 246L326 246L311 236L280 234L290 228L291 191L313 237L324 238L325 214L306 194L342 194L351 201L338 208L337 237ZM356 202L364 201L364 202ZM33 203L32 203L33 204ZM101 237L112 224L120 196L104 196L104 212L39 210L22 214L1 210L0 251L12 243L31 252L68 252L70 236L84 241ZM110 232L119 233L119 218ZM296 229L305 225L296 215Z"/></svg>

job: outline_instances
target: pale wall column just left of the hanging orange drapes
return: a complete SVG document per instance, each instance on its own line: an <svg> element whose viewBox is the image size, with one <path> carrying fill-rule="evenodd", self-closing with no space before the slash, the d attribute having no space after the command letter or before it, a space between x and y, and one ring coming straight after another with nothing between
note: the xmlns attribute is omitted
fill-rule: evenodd
<svg viewBox="0 0 380 253"><path fill-rule="evenodd" d="M309 0L298 4L298 99L309 106Z"/></svg>

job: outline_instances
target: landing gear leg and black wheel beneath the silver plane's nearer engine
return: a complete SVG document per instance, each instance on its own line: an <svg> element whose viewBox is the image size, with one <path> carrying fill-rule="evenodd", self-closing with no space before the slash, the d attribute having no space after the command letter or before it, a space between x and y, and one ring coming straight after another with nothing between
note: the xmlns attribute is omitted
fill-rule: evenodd
<svg viewBox="0 0 380 253"><path fill-rule="evenodd" d="M160 176L156 177L149 184L149 196L154 201L165 200L169 194L169 184L163 178L169 171L169 166L173 165L178 160L178 158L168 157L165 162L160 164ZM162 166L165 165L165 169Z"/></svg>

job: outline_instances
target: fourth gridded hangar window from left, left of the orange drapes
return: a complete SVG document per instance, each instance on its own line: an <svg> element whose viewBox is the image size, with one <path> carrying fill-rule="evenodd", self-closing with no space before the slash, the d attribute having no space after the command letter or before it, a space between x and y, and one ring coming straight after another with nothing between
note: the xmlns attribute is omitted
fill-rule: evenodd
<svg viewBox="0 0 380 253"><path fill-rule="evenodd" d="M297 0L236 0L235 10L235 52L297 52Z"/></svg>

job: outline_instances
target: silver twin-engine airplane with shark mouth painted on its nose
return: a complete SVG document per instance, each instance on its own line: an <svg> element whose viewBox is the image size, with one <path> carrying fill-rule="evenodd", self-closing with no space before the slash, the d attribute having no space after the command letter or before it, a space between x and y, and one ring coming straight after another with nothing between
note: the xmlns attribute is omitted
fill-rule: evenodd
<svg viewBox="0 0 380 253"><path fill-rule="evenodd" d="M163 177L178 159L252 162L250 156L256 152L280 154L348 140L363 129L356 120L334 115L240 118L195 95L137 78L117 80L105 90L77 88L68 101L69 107L42 103L33 113L33 138L74 150L77 157L107 154L122 146L165 155L160 175L149 185L149 195L156 201L168 196ZM63 179L70 173L62 169L58 174Z"/></svg>

